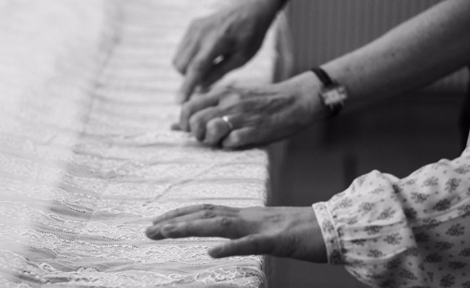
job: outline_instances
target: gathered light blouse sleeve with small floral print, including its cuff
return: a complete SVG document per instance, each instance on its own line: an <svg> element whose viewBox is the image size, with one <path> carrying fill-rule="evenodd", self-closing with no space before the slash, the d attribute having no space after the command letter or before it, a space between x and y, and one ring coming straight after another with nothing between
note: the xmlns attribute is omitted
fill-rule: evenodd
<svg viewBox="0 0 470 288"><path fill-rule="evenodd" d="M362 282L470 288L470 148L403 179L372 171L313 209L329 263Z"/></svg>

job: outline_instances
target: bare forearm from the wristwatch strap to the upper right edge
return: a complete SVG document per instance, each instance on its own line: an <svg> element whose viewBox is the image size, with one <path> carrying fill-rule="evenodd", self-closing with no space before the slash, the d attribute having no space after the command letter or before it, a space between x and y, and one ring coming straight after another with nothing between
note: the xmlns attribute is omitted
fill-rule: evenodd
<svg viewBox="0 0 470 288"><path fill-rule="evenodd" d="M347 87L348 107L421 88L470 63L469 15L468 0L441 2L322 67Z"/></svg>

